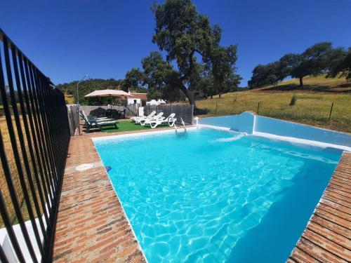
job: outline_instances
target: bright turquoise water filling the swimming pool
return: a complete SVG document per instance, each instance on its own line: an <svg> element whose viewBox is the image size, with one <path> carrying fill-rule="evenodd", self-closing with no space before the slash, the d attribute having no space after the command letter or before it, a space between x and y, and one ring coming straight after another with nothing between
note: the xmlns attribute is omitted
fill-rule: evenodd
<svg viewBox="0 0 351 263"><path fill-rule="evenodd" d="M150 263L285 262L340 159L209 129L95 147Z"/></svg>

